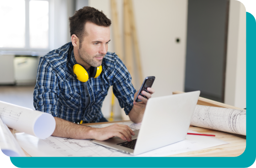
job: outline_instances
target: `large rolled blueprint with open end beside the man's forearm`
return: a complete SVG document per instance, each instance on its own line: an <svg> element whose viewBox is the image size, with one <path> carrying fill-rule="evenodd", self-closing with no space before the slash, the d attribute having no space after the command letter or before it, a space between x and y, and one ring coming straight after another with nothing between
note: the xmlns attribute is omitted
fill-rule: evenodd
<svg viewBox="0 0 256 168"><path fill-rule="evenodd" d="M0 101L0 118L8 127L45 139L53 134L55 119L48 113Z"/></svg>

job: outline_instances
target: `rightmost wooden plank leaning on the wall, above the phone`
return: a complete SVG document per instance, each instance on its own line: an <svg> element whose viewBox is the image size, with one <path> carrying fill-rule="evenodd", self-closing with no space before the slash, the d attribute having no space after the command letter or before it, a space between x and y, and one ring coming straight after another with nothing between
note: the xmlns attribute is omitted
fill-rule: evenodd
<svg viewBox="0 0 256 168"><path fill-rule="evenodd" d="M140 53L139 53L139 44L138 44L138 38L137 38L137 30L136 30L136 24L135 24L135 17L133 12L133 5L132 0L128 0L129 3L129 21L131 26L131 34L132 34L132 40L133 40L133 46L134 46L134 52L135 52L135 59L136 59L136 65L137 70L139 74L139 82L143 83L143 75L142 75L142 69L141 69L141 62L140 62Z"/></svg>

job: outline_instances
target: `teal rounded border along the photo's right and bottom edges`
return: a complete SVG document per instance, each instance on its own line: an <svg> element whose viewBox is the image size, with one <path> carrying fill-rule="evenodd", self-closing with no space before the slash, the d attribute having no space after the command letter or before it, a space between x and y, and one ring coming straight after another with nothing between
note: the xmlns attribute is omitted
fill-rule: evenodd
<svg viewBox="0 0 256 168"><path fill-rule="evenodd" d="M235 167L248 168L256 160L256 145L254 138L253 104L256 96L256 19L246 12L246 110L247 113L247 138L245 152L239 157L210 157L210 158L13 158L11 163L18 168L131 168L135 167L194 167L194 168L216 168ZM248 92L247 92L248 91Z"/></svg>

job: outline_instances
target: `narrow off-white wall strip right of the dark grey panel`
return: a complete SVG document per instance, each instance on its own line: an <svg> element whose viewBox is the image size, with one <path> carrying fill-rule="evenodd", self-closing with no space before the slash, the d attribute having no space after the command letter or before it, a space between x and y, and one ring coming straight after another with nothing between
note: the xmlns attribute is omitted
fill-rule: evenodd
<svg viewBox="0 0 256 168"><path fill-rule="evenodd" d="M224 103L246 107L246 9L230 0Z"/></svg>

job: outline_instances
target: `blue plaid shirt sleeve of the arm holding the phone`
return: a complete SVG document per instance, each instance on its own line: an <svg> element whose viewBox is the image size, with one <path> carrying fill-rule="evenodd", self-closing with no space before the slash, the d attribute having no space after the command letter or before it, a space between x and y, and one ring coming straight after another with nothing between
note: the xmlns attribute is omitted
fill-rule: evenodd
<svg viewBox="0 0 256 168"><path fill-rule="evenodd" d="M128 69L117 55L116 58L113 93L117 97L120 107L124 108L126 115L128 115L133 107L136 89L134 89L131 83L131 75Z"/></svg>

